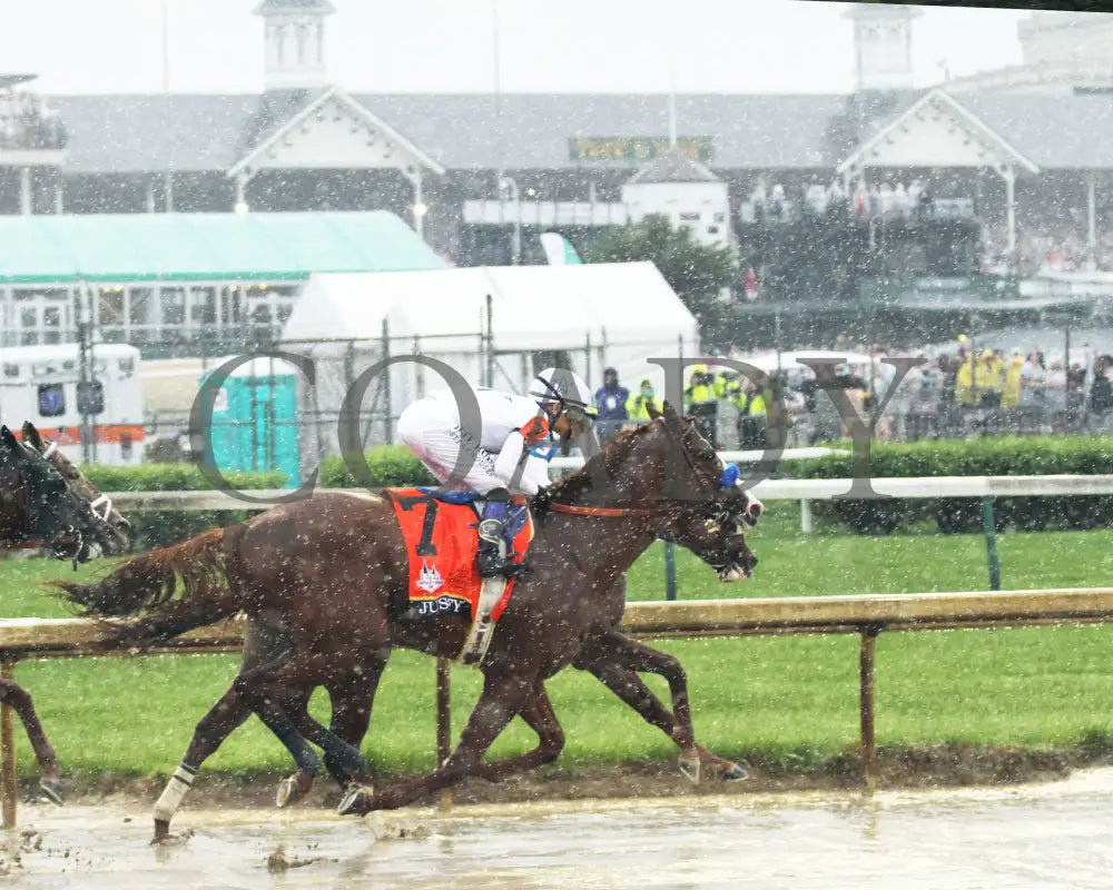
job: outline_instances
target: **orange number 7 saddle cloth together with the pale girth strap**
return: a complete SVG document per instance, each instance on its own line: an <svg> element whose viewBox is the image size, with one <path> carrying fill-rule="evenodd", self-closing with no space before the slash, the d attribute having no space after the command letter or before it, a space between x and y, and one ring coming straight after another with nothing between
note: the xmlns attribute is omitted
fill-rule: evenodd
<svg viewBox="0 0 1113 890"><path fill-rule="evenodd" d="M475 564L482 498L472 493L436 493L432 488L387 488L408 556L408 616L436 621L452 615L471 621L457 659L480 664L514 590L514 578L482 578ZM533 518L523 497L511 502L506 521L506 560L525 561L533 540Z"/></svg>

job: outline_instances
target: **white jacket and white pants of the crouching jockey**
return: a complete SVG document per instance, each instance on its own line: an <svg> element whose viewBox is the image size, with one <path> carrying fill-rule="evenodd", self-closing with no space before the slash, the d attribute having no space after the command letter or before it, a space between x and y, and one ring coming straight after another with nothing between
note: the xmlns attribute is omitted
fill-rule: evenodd
<svg viewBox="0 0 1113 890"><path fill-rule="evenodd" d="M539 421L532 398L493 389L476 389L480 429L461 424L456 400L449 389L421 398L398 417L398 438L430 472L455 491L486 494L492 488L512 487L532 496L550 484L549 464L533 454L531 446L548 427ZM530 439L521 432L530 433ZM474 454L464 466L463 477L453 478L461 453ZM457 473L459 475L459 473Z"/></svg>

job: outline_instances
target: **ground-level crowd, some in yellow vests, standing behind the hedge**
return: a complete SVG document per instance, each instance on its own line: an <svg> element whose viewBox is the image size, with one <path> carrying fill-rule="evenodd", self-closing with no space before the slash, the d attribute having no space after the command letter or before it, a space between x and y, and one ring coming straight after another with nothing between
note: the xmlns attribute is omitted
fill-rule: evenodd
<svg viewBox="0 0 1113 890"><path fill-rule="evenodd" d="M892 394L897 369L886 357L875 346L868 356L835 366L823 382L804 365L748 379L710 359L689 368L683 409L717 448L758 451L847 436L839 408L825 392L833 388L845 390L845 404L867 422L878 400L887 398L874 429L880 439L1113 431L1113 356L1089 347L1072 353L1067 363L1038 349L1006 355L961 338L953 353L915 356ZM649 379L631 390L614 368L604 372L594 399L602 441L660 408Z"/></svg>

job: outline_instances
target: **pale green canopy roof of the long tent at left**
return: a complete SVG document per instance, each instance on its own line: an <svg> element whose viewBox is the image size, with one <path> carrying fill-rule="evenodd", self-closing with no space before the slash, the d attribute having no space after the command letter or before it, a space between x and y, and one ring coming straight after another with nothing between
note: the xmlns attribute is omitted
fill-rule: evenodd
<svg viewBox="0 0 1113 890"><path fill-rule="evenodd" d="M282 281L443 269L394 214L0 216L0 284Z"/></svg>

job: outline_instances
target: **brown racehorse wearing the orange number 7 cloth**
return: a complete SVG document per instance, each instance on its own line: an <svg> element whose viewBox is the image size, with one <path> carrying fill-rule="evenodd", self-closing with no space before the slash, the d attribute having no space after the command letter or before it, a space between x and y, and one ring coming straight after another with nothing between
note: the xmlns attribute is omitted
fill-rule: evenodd
<svg viewBox="0 0 1113 890"><path fill-rule="evenodd" d="M375 793L366 785L359 752L309 721L308 738L322 746L326 763L353 775L342 812L401 807L469 774L498 779L553 759L563 734L545 679L592 646L599 653L624 647L627 661L619 670L643 670L631 666L629 653L648 647L614 627L607 594L654 537L692 550L722 580L750 573L756 560L736 522L748 498L735 485L720 488L722 471L690 419L668 407L653 423L607 443L582 471L554 485L550 512L538 523L538 568L519 582L481 665L480 701L460 744L434 773ZM670 484L680 490L679 497L667 493ZM141 647L239 611L260 626L280 626L289 653L246 671L234 690L290 750L299 773L312 775L319 760L284 708L290 690L328 686L358 671L377 678L395 645L444 657L461 649L469 630L463 619L446 616L435 629L406 621L406 564L387 502L333 493L134 557L99 583L59 585L86 614L144 616L124 626L109 623L110 646ZM178 577L183 590L175 596ZM636 696L633 686L620 694ZM676 689L673 708L667 728L698 763L687 694ZM491 742L519 713L538 732L538 750L481 764ZM188 785L191 774L181 772L176 778Z"/></svg>

